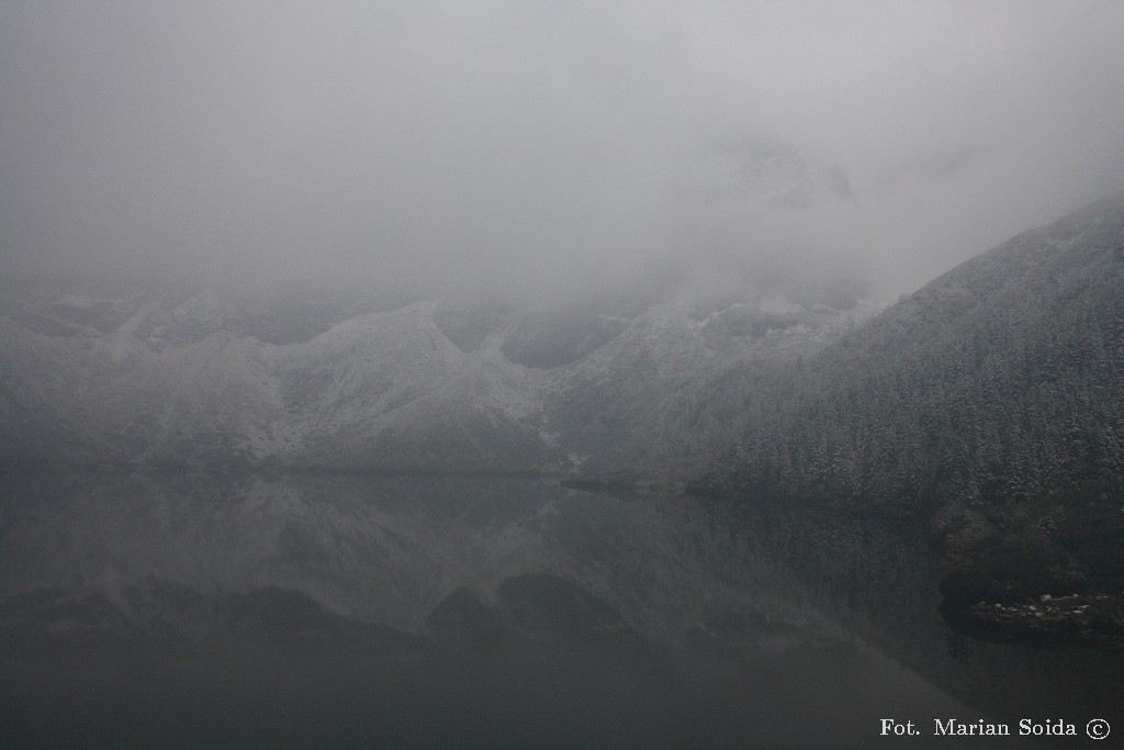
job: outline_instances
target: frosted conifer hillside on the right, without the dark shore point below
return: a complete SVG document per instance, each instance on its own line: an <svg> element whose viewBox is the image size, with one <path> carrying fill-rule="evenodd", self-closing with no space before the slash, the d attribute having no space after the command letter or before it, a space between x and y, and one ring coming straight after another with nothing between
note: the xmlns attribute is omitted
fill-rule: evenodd
<svg viewBox="0 0 1124 750"><path fill-rule="evenodd" d="M992 501L1124 476L1124 199L958 266L737 408L731 488Z"/></svg>

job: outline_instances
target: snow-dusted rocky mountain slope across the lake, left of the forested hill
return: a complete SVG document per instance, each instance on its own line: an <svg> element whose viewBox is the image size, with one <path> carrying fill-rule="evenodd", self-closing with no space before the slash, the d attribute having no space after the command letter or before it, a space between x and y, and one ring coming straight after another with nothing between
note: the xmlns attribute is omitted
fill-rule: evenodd
<svg viewBox="0 0 1124 750"><path fill-rule="evenodd" d="M669 457L706 460L706 425L685 430L676 409L715 368L815 349L871 310L752 290L373 310L183 289L9 295L0 457L429 472L575 472L592 457L640 477Z"/></svg>

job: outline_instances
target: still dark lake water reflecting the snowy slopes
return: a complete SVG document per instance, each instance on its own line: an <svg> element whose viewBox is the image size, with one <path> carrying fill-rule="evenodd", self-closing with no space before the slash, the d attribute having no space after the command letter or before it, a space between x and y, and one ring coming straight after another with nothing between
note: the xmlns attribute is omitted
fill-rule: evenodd
<svg viewBox="0 0 1124 750"><path fill-rule="evenodd" d="M950 630L904 524L533 479L9 479L2 747L1124 747L1124 663ZM918 737L882 735L882 720ZM1012 738L934 737L934 720ZM982 744L981 744L982 743Z"/></svg>

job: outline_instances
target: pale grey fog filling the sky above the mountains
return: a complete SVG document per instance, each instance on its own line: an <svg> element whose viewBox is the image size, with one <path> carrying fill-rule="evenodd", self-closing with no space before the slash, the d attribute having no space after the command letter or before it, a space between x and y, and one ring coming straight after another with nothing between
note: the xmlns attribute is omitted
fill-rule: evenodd
<svg viewBox="0 0 1124 750"><path fill-rule="evenodd" d="M0 261L916 289L1124 189L1116 2L0 3Z"/></svg>

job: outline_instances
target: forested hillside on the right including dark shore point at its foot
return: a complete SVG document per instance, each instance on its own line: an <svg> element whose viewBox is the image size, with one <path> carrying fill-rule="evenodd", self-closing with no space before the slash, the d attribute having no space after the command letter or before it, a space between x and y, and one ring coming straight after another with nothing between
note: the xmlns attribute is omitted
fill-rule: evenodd
<svg viewBox="0 0 1124 750"><path fill-rule="evenodd" d="M707 487L921 512L964 605L1124 588L1124 197L726 392L746 378ZM1001 617L1022 615L1042 617ZM1122 615L1094 630L1118 638Z"/></svg>

